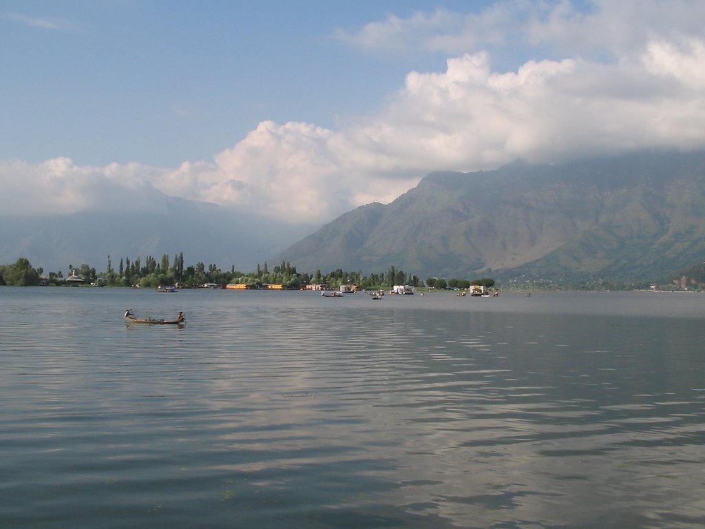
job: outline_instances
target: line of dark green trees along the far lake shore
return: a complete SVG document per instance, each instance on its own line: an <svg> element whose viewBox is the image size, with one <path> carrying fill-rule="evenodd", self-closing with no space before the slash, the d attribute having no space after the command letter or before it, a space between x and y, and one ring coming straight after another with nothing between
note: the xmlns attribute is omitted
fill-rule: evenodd
<svg viewBox="0 0 705 529"><path fill-rule="evenodd" d="M69 278L80 278L85 284L99 286L140 286L142 288L157 288L159 286L178 285L180 288L197 288L205 284L216 284L224 286L228 283L246 284L253 288L259 288L265 284L283 284L286 288L301 288L307 284L325 283L330 288L339 288L343 284L355 284L365 290L378 288L391 288L393 285L411 285L414 287L424 286L424 282L418 276L407 274L394 266L389 267L386 272L363 275L362 272L350 272L343 269L336 269L332 272L323 273L320 269L312 273L298 272L295 266L289 262L282 261L281 265L276 265L270 269L267 262L264 265L257 265L254 272L241 272L231 267L230 270L222 270L216 265L206 266L203 262L196 265L185 266L183 253L161 256L160 260L151 255L145 257L143 261L140 257L130 259L123 257L117 265L114 265L110 256L107 259L107 267L103 272L97 272L90 265L80 265L80 267L68 266ZM49 272L44 275L44 269L32 267L29 260L20 257L13 265L0 265L0 285L10 286L31 286L43 284L61 285L66 284L66 276L63 272ZM427 278L426 286L432 288L467 288L471 284L494 285L494 280L484 278L474 281L467 279L446 279Z"/></svg>

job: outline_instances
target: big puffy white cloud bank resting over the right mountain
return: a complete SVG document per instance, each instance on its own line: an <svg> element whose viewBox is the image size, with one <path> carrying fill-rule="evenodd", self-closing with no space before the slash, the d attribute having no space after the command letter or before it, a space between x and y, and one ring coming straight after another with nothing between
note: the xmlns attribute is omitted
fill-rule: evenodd
<svg viewBox="0 0 705 529"><path fill-rule="evenodd" d="M438 169L704 148L699 64L705 48L695 39L648 42L611 63L528 61L503 73L489 54L465 54L444 72L407 75L375 116L339 130L266 121L214 162L186 164L154 185L173 193L181 182L199 200L321 222L393 200Z"/></svg>

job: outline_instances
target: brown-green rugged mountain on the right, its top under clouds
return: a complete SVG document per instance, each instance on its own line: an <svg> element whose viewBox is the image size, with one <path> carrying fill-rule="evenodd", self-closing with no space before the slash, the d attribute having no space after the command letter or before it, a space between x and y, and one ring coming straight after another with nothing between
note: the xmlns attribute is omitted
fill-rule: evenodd
<svg viewBox="0 0 705 529"><path fill-rule="evenodd" d="M429 174L271 262L470 278L652 279L705 257L705 153Z"/></svg>

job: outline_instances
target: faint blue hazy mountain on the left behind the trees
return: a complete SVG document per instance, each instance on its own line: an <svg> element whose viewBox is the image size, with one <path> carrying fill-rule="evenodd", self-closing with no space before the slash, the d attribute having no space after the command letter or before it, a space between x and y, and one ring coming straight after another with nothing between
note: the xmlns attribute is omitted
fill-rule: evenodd
<svg viewBox="0 0 705 529"><path fill-rule="evenodd" d="M185 264L235 266L243 272L310 233L309 226L286 226L238 214L216 205L167 197L152 190L149 212L83 212L47 217L7 217L0 212L0 265L26 257L45 272L68 272L69 265L115 269L123 257L183 252ZM142 208L143 209L143 208Z"/></svg>

